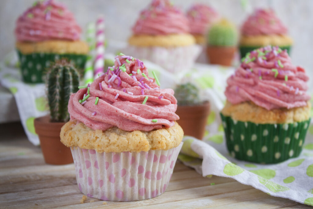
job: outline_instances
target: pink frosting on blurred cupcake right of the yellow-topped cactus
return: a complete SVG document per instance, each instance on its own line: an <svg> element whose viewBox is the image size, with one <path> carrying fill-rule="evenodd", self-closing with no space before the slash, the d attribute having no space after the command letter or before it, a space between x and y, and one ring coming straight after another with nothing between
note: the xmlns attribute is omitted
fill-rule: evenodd
<svg viewBox="0 0 313 209"><path fill-rule="evenodd" d="M243 35L287 34L287 28L277 18L273 9L257 9L244 22Z"/></svg>

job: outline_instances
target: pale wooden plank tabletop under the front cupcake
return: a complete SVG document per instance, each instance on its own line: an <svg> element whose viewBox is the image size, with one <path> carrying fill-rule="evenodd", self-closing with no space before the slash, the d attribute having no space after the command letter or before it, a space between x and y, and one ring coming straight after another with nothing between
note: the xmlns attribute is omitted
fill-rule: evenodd
<svg viewBox="0 0 313 209"><path fill-rule="evenodd" d="M231 178L202 177L179 161L161 196L134 202L87 197L80 204L82 196L76 184L74 164L45 164L40 148L27 140L19 123L0 125L1 208L310 208L269 196Z"/></svg>

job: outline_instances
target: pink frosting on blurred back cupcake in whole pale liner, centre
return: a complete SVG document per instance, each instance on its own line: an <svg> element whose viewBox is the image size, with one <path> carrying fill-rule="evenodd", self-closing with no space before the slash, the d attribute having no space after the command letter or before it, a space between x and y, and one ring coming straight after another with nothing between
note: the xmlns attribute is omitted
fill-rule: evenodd
<svg viewBox="0 0 313 209"><path fill-rule="evenodd" d="M134 34L167 35L189 33L188 19L168 0L153 0L141 11Z"/></svg>

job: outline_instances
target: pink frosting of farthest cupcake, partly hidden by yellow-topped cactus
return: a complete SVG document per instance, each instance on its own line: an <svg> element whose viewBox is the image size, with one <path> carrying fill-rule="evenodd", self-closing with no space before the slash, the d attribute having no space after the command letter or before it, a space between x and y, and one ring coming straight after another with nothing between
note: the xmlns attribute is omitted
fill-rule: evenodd
<svg viewBox="0 0 313 209"><path fill-rule="evenodd" d="M219 14L204 4L195 4L187 11L191 34L206 34L209 27L219 18Z"/></svg>

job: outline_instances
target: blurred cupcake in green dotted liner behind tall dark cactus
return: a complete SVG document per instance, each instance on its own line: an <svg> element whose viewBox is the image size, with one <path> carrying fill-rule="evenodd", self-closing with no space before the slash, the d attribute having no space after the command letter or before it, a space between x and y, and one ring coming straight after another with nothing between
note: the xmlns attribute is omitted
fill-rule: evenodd
<svg viewBox="0 0 313 209"><path fill-rule="evenodd" d="M18 17L15 36L23 81L43 82L50 62L67 58L83 70L88 45L80 41L81 29L73 13L54 0L38 1Z"/></svg>

